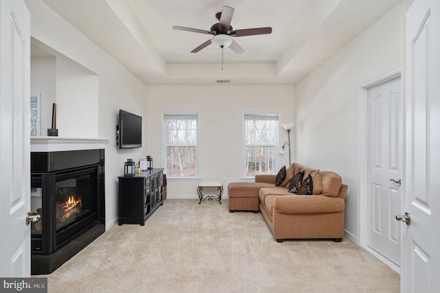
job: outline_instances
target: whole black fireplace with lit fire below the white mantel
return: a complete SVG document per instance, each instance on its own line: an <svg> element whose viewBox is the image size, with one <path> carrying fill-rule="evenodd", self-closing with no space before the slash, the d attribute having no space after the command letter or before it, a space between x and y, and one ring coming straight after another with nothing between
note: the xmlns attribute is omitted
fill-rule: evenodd
<svg viewBox="0 0 440 293"><path fill-rule="evenodd" d="M104 150L31 153L31 274L50 274L105 231Z"/></svg>

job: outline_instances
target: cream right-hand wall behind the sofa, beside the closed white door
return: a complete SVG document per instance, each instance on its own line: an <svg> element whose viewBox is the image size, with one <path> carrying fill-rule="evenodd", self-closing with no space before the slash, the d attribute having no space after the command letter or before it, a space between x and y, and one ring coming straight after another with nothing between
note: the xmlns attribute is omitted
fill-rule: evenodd
<svg viewBox="0 0 440 293"><path fill-rule="evenodd" d="M345 226L359 237L356 91L369 78L400 66L403 1L296 85L296 155L305 166L336 171L348 184Z"/></svg>

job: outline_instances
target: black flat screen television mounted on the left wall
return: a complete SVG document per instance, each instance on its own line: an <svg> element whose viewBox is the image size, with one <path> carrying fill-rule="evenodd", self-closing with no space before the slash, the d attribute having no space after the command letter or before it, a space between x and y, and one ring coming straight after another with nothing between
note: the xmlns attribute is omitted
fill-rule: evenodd
<svg viewBox="0 0 440 293"><path fill-rule="evenodd" d="M119 148L142 147L142 117L119 110Z"/></svg>

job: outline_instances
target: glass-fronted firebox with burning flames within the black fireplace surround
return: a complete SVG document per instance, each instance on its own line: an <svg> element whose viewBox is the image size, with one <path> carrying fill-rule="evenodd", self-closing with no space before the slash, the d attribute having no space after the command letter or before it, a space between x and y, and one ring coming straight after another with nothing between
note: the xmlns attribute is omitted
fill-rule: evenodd
<svg viewBox="0 0 440 293"><path fill-rule="evenodd" d="M32 175L32 251L50 253L98 222L98 166Z"/></svg>

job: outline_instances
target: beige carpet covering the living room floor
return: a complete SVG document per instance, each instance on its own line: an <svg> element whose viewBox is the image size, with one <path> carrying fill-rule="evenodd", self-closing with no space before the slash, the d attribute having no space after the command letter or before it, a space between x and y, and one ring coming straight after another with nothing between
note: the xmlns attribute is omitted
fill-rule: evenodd
<svg viewBox="0 0 440 293"><path fill-rule="evenodd" d="M399 274L351 241L277 243L227 200L166 199L47 277L49 292L399 292Z"/></svg>

